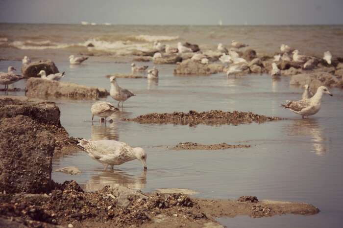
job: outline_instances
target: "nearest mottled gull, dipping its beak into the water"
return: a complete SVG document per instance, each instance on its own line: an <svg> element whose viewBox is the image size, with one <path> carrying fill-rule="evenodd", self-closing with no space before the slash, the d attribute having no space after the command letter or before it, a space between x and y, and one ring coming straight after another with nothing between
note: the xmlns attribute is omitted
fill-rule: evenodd
<svg viewBox="0 0 343 228"><path fill-rule="evenodd" d="M102 163L105 170L109 165L121 165L127 161L138 159L142 162L144 169L147 169L147 153L141 147L132 148L125 142L116 140L90 140L81 139L77 146L88 155Z"/></svg>

